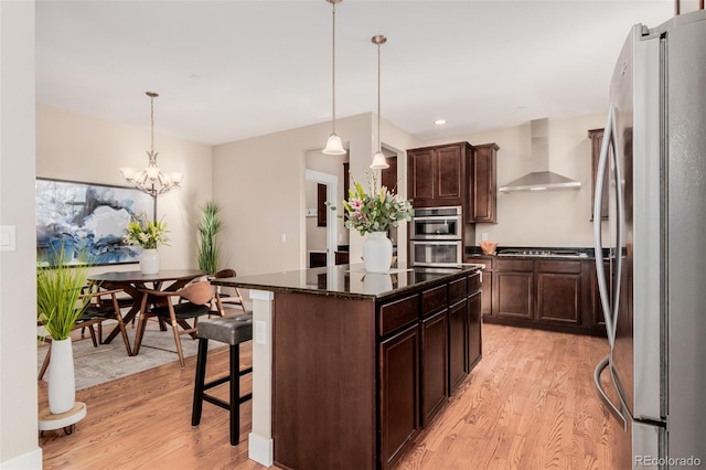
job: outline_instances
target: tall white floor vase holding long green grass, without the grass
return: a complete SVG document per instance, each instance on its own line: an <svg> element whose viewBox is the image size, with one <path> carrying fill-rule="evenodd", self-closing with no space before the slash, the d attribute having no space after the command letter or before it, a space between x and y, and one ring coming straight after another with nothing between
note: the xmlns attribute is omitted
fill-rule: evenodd
<svg viewBox="0 0 706 470"><path fill-rule="evenodd" d="M49 361L49 409L53 415L71 412L76 404L74 350L71 338L52 341Z"/></svg>

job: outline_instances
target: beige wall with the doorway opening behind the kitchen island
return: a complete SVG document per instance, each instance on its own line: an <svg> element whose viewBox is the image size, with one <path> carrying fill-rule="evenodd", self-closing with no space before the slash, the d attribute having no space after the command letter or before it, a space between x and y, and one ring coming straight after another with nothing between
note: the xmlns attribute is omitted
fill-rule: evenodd
<svg viewBox="0 0 706 470"><path fill-rule="evenodd" d="M372 114L338 119L336 132L346 142L351 173L365 181L376 146ZM213 195L224 206L224 259L239 275L307 266L304 170L308 152L321 149L330 122L290 129L215 146ZM383 120L383 141L407 149L418 141ZM400 174L406 171L402 165ZM282 243L282 235L286 242ZM363 238L352 233L351 259L360 259Z"/></svg>

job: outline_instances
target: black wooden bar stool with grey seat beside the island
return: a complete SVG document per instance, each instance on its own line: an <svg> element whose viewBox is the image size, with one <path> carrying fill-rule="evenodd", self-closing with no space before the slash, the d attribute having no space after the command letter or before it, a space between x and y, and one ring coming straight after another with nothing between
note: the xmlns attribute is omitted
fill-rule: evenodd
<svg viewBox="0 0 706 470"><path fill-rule="evenodd" d="M253 367L240 371L240 343L253 339L253 314L238 314L234 317L221 317L202 320L197 327L199 354L196 356L196 377L194 383L194 403L191 414L191 426L201 423L203 402L206 400L221 408L231 412L231 445L238 445L240 435L240 404L253 398L253 394L240 396L240 377L253 372ZM226 343L231 348L231 364L228 375L215 378L206 383L206 355L208 353L208 340ZM225 402L205 392L217 385L229 382L231 396Z"/></svg>

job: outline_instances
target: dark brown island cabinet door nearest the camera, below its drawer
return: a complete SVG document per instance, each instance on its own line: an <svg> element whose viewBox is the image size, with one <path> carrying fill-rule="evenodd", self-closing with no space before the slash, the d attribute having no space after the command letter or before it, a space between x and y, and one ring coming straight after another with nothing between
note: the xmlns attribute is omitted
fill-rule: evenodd
<svg viewBox="0 0 706 470"><path fill-rule="evenodd" d="M419 432L419 325L383 341L379 356L381 453L388 466Z"/></svg>

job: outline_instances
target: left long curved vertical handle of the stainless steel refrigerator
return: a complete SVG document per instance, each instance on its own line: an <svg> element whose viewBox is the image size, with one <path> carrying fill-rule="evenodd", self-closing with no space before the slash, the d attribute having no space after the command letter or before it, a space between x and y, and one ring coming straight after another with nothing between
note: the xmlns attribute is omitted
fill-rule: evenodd
<svg viewBox="0 0 706 470"><path fill-rule="evenodd" d="M606 122L606 131L603 135L603 143L600 149L600 158L598 160L598 169L596 172L596 194L593 196L593 242L596 247L596 276L598 278L598 292L600 295L600 306L606 320L606 330L608 333L608 344L613 349L616 342L614 322L612 321L612 312L610 298L608 297L608 284L606 282L606 271L603 269L603 241L601 231L600 212L603 199L603 183L606 180L606 167L608 165L609 150L614 149L613 140L613 107L608 109L608 121Z"/></svg>

